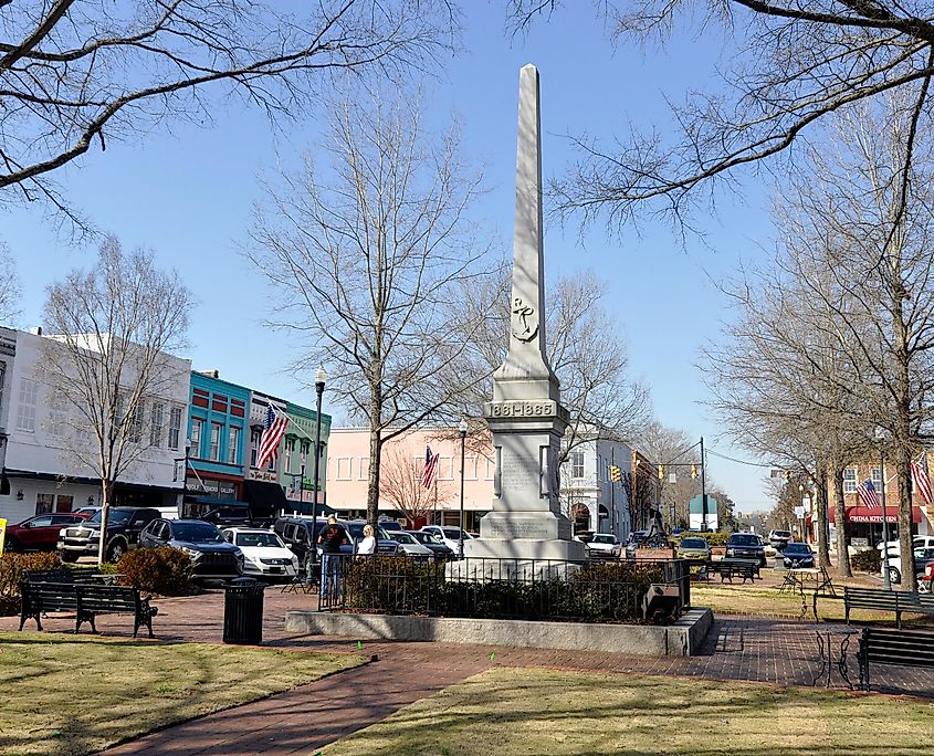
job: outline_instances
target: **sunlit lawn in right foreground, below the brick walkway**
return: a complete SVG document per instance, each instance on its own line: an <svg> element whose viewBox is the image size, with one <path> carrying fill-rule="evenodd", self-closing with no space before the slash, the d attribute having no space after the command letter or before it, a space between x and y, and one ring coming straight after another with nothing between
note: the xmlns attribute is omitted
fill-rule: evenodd
<svg viewBox="0 0 934 756"><path fill-rule="evenodd" d="M685 678L499 668L338 741L325 756L370 754L927 753L934 704Z"/></svg>

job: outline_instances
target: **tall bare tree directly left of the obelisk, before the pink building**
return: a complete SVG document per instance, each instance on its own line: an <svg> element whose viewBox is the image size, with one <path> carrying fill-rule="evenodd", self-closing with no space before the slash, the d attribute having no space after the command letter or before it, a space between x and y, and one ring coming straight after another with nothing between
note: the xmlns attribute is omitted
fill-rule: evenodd
<svg viewBox="0 0 934 756"><path fill-rule="evenodd" d="M481 176L455 128L433 139L417 97L350 91L329 107L324 147L258 209L250 253L302 342L301 377L319 363L333 393L369 427L367 516L378 514L384 444L445 410L475 377L451 369L470 348L459 297L490 272L469 219Z"/></svg>

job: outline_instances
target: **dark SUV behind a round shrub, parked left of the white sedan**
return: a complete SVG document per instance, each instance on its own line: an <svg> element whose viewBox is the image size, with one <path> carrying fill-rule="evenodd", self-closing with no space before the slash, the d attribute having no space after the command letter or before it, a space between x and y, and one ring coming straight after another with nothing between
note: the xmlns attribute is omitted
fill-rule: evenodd
<svg viewBox="0 0 934 756"><path fill-rule="evenodd" d="M180 548L191 558L196 578L234 578L243 575L245 559L211 523L203 519L154 519L139 535L140 548Z"/></svg>

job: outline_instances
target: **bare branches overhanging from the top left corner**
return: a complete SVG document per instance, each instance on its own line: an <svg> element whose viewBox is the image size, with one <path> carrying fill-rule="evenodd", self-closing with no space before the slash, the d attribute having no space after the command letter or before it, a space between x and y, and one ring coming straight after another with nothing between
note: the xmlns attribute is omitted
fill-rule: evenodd
<svg viewBox="0 0 934 756"><path fill-rule="evenodd" d="M448 0L0 0L0 202L42 198L81 219L52 174L235 96L294 117L329 72L393 74L453 42Z"/></svg>

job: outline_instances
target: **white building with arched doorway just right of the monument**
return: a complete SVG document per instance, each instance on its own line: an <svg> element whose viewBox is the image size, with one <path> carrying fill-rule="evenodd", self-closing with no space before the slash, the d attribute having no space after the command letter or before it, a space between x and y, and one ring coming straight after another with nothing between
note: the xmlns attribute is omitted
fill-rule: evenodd
<svg viewBox="0 0 934 756"><path fill-rule="evenodd" d="M611 480L611 468L620 480ZM632 450L625 443L604 439L579 442L562 465L562 503L575 533L613 533L626 540L630 522L628 484Z"/></svg>

